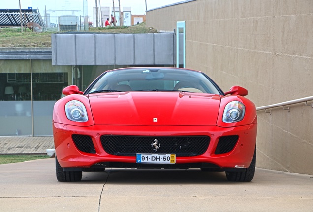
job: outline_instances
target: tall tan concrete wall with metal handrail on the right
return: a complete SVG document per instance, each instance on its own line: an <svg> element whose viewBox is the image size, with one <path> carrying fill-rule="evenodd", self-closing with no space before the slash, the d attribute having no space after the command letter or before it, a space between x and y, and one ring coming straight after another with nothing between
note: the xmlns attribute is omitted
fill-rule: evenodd
<svg viewBox="0 0 313 212"><path fill-rule="evenodd" d="M186 67L256 106L313 95L313 0L196 0L146 18L159 31L186 21ZM313 175L311 106L258 112L257 167Z"/></svg>

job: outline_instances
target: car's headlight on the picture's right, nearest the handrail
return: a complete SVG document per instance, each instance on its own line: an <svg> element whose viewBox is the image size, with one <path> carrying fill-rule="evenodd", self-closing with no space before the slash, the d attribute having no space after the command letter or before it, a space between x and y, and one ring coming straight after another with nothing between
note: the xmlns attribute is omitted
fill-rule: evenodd
<svg viewBox="0 0 313 212"><path fill-rule="evenodd" d="M232 101L225 107L223 122L232 123L241 121L245 116L245 105L238 101Z"/></svg>

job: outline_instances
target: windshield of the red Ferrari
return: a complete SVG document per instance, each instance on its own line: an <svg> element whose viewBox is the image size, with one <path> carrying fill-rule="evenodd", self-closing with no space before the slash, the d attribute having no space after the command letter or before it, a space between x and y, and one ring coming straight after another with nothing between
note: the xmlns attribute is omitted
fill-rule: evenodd
<svg viewBox="0 0 313 212"><path fill-rule="evenodd" d="M219 87L198 71L177 68L126 68L107 71L85 94L124 91L182 91L221 94Z"/></svg>

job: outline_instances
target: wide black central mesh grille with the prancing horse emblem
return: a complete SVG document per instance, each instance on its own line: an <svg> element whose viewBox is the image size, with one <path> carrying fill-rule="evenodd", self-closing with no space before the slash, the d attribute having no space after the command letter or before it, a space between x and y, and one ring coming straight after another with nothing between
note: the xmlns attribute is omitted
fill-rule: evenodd
<svg viewBox="0 0 313 212"><path fill-rule="evenodd" d="M159 149L152 145L158 140ZM118 136L103 135L103 149L111 155L135 156L136 153L172 153L176 156L197 156L203 154L209 146L208 136Z"/></svg>

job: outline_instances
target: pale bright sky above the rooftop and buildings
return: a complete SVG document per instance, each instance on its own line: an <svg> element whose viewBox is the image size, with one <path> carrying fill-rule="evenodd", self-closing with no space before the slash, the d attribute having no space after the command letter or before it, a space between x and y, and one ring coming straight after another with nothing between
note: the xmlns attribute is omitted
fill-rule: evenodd
<svg viewBox="0 0 313 212"><path fill-rule="evenodd" d="M88 14L93 16L93 7L95 7L95 0L87 1ZM97 0L99 2L99 0ZM121 10L123 7L131 7L131 13L133 15L146 14L146 2L147 10L157 7L177 3L184 0L120 0ZM75 14L80 13L78 10L83 8L83 0L21 0L22 9L33 7L33 9L39 9L40 14L43 16L45 6L46 10L77 10ZM113 0L100 0L101 7L113 7ZM86 6L86 5L84 5ZM114 0L114 6L119 6L119 0ZM0 0L0 9L18 9L19 0Z"/></svg>

